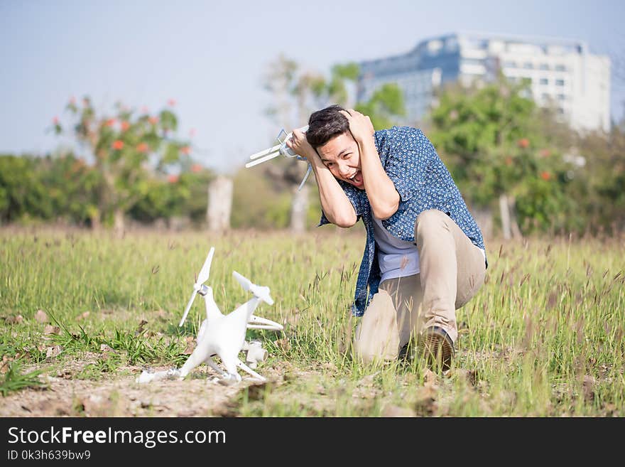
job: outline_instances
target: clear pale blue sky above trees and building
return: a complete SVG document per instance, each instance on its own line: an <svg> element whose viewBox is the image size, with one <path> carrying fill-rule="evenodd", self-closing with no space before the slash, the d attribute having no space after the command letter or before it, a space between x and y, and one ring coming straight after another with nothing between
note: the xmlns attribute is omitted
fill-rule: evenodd
<svg viewBox="0 0 625 467"><path fill-rule="evenodd" d="M71 144L49 131L54 117L70 122L70 97L109 113L117 101L158 112L175 100L192 158L232 173L282 128L263 89L281 54L328 73L478 31L585 41L614 69L625 62L624 18L622 0L0 0L0 154ZM612 80L614 118L624 102L625 76Z"/></svg>

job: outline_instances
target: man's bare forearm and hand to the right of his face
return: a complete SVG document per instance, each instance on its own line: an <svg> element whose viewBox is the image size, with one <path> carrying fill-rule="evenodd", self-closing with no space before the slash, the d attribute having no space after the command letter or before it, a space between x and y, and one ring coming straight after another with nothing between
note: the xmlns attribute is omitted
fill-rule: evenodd
<svg viewBox="0 0 625 467"><path fill-rule="evenodd" d="M342 110L341 113L347 118L349 131L358 144L362 180L371 211L376 218L388 219L399 208L400 198L393 181L382 167L373 138L371 119L354 109L349 109L349 112Z"/></svg>

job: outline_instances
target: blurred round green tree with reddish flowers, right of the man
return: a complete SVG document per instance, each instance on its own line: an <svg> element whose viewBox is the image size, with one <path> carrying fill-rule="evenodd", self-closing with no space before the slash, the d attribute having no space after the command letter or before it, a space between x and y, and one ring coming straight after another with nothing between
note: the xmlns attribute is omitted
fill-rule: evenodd
<svg viewBox="0 0 625 467"><path fill-rule="evenodd" d="M553 203L544 202L548 193L550 200L565 202L555 193L562 193L568 166L562 148L544 130L553 118L536 107L529 92L528 82L512 83L500 75L481 88L447 87L431 113L430 138L447 157L462 192L483 207L499 202L506 238L521 233L518 200L526 203L523 215L544 222L558 213Z"/></svg>

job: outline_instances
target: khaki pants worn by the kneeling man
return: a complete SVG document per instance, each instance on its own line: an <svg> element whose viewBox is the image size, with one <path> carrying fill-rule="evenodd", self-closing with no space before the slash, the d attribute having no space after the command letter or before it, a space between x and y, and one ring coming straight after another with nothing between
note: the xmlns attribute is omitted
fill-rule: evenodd
<svg viewBox="0 0 625 467"><path fill-rule="evenodd" d="M354 353L364 362L396 359L430 326L445 329L455 342L456 309L484 284L482 252L442 211L418 216L415 239L420 274L382 282L356 328Z"/></svg>

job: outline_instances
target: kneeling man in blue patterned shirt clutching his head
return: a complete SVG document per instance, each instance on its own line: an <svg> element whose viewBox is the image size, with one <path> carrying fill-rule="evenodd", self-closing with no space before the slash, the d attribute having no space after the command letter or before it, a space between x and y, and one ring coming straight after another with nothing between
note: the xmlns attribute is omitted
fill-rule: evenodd
<svg viewBox="0 0 625 467"><path fill-rule="evenodd" d="M416 338L430 366L449 369L455 310L484 283L482 232L422 131L374 131L369 117L332 105L314 112L288 146L308 159L319 187L320 225L362 219L366 246L354 316L354 352L392 360ZM365 313L366 311L366 313Z"/></svg>

